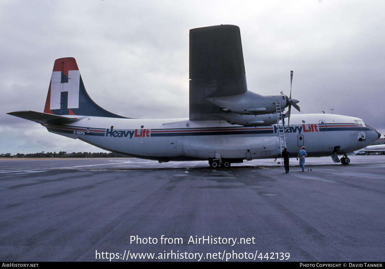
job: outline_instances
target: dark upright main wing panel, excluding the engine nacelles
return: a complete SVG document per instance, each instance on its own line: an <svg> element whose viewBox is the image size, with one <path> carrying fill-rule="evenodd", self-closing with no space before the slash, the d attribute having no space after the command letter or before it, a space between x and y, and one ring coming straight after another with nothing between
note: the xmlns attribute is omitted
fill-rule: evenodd
<svg viewBox="0 0 385 269"><path fill-rule="evenodd" d="M190 120L215 120L225 114L207 98L247 92L241 32L235 25L190 30Z"/></svg>

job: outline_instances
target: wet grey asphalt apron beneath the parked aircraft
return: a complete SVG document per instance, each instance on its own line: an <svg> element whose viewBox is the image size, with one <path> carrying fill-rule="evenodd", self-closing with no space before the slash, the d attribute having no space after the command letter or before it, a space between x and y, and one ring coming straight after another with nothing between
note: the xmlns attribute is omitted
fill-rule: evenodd
<svg viewBox="0 0 385 269"><path fill-rule="evenodd" d="M0 160L0 261L384 261L385 156L350 158Z"/></svg>

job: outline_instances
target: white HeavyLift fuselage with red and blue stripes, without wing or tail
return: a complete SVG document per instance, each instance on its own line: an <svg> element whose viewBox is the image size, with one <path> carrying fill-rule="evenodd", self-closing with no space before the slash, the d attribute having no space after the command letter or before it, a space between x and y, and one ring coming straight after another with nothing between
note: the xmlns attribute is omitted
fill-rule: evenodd
<svg viewBox="0 0 385 269"><path fill-rule="evenodd" d="M77 116L69 125L43 124L52 133L79 138L99 148L138 158L177 161L210 158L258 159L280 156L275 126L238 126L226 121L189 119L121 119ZM291 115L285 127L286 147L306 146L308 156L330 156L359 150L378 139L362 120L332 114ZM363 138L364 137L364 138ZM359 139L360 138L360 139Z"/></svg>

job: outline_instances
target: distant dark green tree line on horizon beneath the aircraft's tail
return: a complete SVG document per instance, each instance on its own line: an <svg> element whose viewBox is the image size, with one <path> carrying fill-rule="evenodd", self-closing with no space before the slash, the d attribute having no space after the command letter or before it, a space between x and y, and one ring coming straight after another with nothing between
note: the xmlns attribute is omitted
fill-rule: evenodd
<svg viewBox="0 0 385 269"><path fill-rule="evenodd" d="M59 153L47 152L44 151L38 153L17 153L16 155L11 155L11 153L3 153L0 155L0 158L129 158L126 155L121 155L114 152L72 152L67 153L65 151L60 151Z"/></svg>

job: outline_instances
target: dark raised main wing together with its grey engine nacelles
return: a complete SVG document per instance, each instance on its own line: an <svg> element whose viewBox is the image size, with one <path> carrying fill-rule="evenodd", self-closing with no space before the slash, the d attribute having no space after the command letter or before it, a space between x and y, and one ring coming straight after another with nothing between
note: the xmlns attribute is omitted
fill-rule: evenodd
<svg viewBox="0 0 385 269"><path fill-rule="evenodd" d="M276 124L282 111L299 101L281 95L263 96L248 91L241 31L236 25L190 30L189 119L224 120L243 126ZM278 103L277 103L278 101Z"/></svg>

